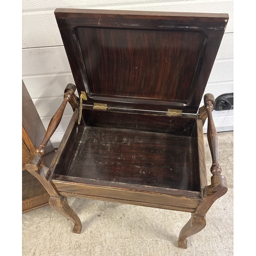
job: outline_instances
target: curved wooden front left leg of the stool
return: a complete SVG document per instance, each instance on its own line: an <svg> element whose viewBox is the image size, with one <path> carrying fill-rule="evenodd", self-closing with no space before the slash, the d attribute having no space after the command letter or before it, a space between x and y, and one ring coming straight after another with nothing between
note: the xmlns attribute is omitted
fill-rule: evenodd
<svg viewBox="0 0 256 256"><path fill-rule="evenodd" d="M75 225L73 232L80 234L82 229L82 223L79 217L76 215L75 211L69 206L67 197L50 197L49 204L56 210L59 214L72 221Z"/></svg>

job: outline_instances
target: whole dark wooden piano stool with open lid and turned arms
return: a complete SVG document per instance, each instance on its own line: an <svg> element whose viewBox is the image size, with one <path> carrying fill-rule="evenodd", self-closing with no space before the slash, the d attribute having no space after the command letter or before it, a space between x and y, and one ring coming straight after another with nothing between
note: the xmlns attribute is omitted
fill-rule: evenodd
<svg viewBox="0 0 256 256"><path fill-rule="evenodd" d="M228 14L56 9L55 17L75 85L66 87L26 168L52 208L75 224L73 232L82 226L67 197L158 207L191 212L178 240L186 248L227 191L214 96L204 95L199 106ZM74 114L51 164L42 165L67 102Z"/></svg>

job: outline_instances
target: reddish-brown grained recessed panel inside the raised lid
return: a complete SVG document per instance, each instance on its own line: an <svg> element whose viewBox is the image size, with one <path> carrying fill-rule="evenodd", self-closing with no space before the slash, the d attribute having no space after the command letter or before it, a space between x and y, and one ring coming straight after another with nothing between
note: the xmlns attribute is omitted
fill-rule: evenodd
<svg viewBox="0 0 256 256"><path fill-rule="evenodd" d="M203 33L77 28L77 35L89 97L124 96L187 104Z"/></svg>

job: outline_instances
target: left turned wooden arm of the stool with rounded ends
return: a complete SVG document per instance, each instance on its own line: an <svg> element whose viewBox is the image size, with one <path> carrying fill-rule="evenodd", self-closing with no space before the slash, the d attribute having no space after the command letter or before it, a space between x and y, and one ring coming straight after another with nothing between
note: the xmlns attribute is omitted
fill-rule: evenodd
<svg viewBox="0 0 256 256"><path fill-rule="evenodd" d="M40 146L38 146L36 148L34 155L30 156L28 163L26 164L27 169L38 170L38 168L41 164L41 161L42 161L42 156L46 152L46 145L47 145L48 141L50 140L50 138L52 137L55 130L57 129L68 101L70 101L70 100L72 102L74 101L75 90L76 90L76 86L74 84L69 83L67 85L67 87L65 89L63 101L62 101L61 105L59 106L58 110L56 111L56 113L53 115L53 117L48 125L46 135L45 135L44 139L42 140L42 143L40 144ZM72 106L72 108L73 108L73 106Z"/></svg>

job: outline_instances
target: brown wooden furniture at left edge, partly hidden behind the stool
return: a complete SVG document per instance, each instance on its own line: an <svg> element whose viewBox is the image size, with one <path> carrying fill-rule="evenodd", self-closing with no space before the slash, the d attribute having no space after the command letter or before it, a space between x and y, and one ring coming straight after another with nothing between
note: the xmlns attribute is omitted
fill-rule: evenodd
<svg viewBox="0 0 256 256"><path fill-rule="evenodd" d="M42 184L25 167L35 148L46 133L35 105L22 81L22 213L49 205L50 195ZM51 141L47 144L42 164L50 165L55 155Z"/></svg>

